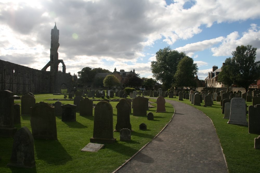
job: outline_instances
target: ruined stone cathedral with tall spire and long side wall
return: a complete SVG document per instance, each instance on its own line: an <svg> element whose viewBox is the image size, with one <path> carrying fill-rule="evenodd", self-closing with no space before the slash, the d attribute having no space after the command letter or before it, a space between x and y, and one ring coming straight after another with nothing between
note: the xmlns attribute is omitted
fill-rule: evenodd
<svg viewBox="0 0 260 173"><path fill-rule="evenodd" d="M67 87L71 92L76 87L77 75L66 73L66 66L59 59L59 30L56 24L51 29L50 61L36 70L22 65L0 60L1 90L9 90L15 94L32 93L61 93L61 87ZM62 71L59 71L59 64ZM50 71L46 71L50 67Z"/></svg>

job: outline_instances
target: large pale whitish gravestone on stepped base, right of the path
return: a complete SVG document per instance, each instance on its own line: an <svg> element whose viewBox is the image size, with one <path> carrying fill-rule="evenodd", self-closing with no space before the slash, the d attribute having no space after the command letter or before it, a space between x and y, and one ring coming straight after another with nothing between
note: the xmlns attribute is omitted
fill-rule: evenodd
<svg viewBox="0 0 260 173"><path fill-rule="evenodd" d="M245 99L233 98L230 103L230 118L229 124L238 124L242 126L248 126L246 121L246 105Z"/></svg>

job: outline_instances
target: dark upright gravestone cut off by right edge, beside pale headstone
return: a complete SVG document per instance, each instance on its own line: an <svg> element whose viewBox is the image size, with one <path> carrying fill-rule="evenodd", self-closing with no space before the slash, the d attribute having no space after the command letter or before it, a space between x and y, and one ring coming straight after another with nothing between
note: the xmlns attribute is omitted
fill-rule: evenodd
<svg viewBox="0 0 260 173"><path fill-rule="evenodd" d="M250 105L248 109L248 133L260 134L260 105Z"/></svg>

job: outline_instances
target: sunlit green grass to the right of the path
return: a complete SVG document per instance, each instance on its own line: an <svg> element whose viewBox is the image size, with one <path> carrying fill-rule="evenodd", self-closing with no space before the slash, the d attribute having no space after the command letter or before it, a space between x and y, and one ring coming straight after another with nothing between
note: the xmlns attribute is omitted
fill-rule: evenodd
<svg viewBox="0 0 260 173"><path fill-rule="evenodd" d="M176 98L170 100L178 101ZM202 106L194 106L189 100L183 100L180 102L201 110L212 120L229 172L260 172L260 150L254 149L254 138L260 134L249 134L246 126L228 124L228 119L223 119L220 102L214 101L212 106L203 107L204 102L201 103ZM246 104L249 106L252 102Z"/></svg>

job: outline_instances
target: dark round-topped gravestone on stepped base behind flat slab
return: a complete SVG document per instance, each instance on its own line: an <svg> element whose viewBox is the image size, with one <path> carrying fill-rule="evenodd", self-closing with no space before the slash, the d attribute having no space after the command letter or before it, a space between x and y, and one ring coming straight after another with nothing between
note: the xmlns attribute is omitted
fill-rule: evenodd
<svg viewBox="0 0 260 173"><path fill-rule="evenodd" d="M113 143L116 139L113 136L113 107L106 101L96 104L94 110L93 143Z"/></svg>

